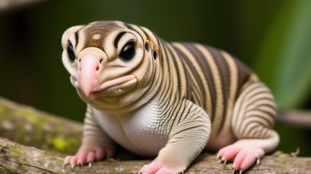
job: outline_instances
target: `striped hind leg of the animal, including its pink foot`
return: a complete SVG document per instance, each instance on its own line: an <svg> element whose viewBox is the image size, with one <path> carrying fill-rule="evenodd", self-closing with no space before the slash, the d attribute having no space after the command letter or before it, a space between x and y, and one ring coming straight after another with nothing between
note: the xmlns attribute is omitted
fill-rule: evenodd
<svg viewBox="0 0 311 174"><path fill-rule="evenodd" d="M253 83L241 93L234 106L232 131L238 141L218 151L221 160L233 161L234 171L245 171L279 144L272 129L276 105L263 83Z"/></svg>

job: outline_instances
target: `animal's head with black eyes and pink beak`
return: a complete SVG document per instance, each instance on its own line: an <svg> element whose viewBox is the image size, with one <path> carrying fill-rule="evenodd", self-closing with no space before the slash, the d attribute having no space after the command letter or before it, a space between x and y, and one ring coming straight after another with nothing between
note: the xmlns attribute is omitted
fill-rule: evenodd
<svg viewBox="0 0 311 174"><path fill-rule="evenodd" d="M147 28L119 21L78 25L64 32L62 47L71 83L93 107L133 109L144 104L143 95L152 96L160 48Z"/></svg>

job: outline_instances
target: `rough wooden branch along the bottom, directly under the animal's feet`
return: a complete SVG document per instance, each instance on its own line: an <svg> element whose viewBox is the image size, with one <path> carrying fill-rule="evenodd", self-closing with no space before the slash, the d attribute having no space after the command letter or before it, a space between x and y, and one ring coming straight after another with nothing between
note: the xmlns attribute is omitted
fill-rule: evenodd
<svg viewBox="0 0 311 174"><path fill-rule="evenodd" d="M0 173L138 173L144 164L151 160L103 161L88 166L62 168L64 159L34 147L23 146L0 138ZM194 173L232 173L231 164L223 168L216 162L215 155L202 154L185 172ZM311 173L310 157L272 157L265 156L261 164L247 171L257 173Z"/></svg>

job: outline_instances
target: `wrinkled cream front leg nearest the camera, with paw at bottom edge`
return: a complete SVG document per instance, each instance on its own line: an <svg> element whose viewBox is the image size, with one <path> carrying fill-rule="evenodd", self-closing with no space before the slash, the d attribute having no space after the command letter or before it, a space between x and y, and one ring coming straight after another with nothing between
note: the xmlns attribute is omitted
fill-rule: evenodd
<svg viewBox="0 0 311 174"><path fill-rule="evenodd" d="M192 102L187 102L184 109L168 116L169 141L140 173L182 173L205 148L211 131L207 113Z"/></svg>

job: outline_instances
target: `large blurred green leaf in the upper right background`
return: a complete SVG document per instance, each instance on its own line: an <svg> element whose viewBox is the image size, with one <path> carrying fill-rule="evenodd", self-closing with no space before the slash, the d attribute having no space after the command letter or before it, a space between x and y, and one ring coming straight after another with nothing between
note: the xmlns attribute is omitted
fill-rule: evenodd
<svg viewBox="0 0 311 174"><path fill-rule="evenodd" d="M285 3L254 65L281 109L301 107L311 89L311 1Z"/></svg>

